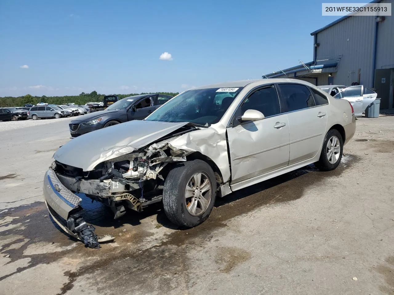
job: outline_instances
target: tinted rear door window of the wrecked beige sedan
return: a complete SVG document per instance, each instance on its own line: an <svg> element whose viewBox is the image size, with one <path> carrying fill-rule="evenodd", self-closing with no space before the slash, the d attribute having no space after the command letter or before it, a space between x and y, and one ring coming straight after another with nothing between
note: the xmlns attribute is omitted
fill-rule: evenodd
<svg viewBox="0 0 394 295"><path fill-rule="evenodd" d="M292 112L315 106L312 93L304 85L278 84L278 88L286 107L283 112Z"/></svg>

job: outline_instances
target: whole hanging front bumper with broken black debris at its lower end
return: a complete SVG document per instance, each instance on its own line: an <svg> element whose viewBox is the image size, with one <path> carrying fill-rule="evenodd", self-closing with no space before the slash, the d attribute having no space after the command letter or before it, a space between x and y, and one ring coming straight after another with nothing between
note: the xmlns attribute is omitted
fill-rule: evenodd
<svg viewBox="0 0 394 295"><path fill-rule="evenodd" d="M100 243L115 239L111 236L97 238L95 227L88 225L81 217L82 199L65 188L51 168L45 173L43 192L46 207L54 221L72 237L84 242L87 247L97 249L100 248ZM67 227L60 219L67 221Z"/></svg>

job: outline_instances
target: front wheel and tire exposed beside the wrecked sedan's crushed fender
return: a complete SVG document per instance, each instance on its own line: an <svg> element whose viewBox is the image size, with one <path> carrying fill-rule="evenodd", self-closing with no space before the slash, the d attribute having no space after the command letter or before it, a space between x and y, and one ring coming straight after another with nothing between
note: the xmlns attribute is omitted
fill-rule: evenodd
<svg viewBox="0 0 394 295"><path fill-rule="evenodd" d="M202 160L177 164L167 175L163 207L167 218L182 227L195 227L211 214L216 199L216 177Z"/></svg>

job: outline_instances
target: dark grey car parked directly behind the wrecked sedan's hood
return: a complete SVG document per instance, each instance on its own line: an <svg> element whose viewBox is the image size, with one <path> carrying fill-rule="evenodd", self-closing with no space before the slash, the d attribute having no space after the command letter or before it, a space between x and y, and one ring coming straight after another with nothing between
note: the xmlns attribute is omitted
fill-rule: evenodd
<svg viewBox="0 0 394 295"><path fill-rule="evenodd" d="M104 111L93 112L72 120L69 124L72 137L124 123L131 120L143 120L172 96L164 94L143 94L118 100Z"/></svg>

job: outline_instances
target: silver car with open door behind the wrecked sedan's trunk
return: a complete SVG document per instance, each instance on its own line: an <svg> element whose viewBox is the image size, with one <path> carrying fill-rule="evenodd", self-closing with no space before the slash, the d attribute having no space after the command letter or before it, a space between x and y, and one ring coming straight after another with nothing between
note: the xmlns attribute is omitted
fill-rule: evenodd
<svg viewBox="0 0 394 295"><path fill-rule="evenodd" d="M356 117L361 117L365 109L377 98L377 93L363 85L344 87L342 85L330 85L330 95L335 98L348 100L354 109ZM325 90L327 86L319 86Z"/></svg>

